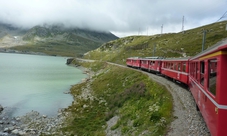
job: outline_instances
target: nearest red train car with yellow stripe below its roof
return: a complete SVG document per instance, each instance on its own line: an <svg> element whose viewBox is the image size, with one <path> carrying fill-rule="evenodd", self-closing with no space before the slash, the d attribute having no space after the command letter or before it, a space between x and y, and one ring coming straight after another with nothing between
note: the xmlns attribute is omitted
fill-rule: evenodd
<svg viewBox="0 0 227 136"><path fill-rule="evenodd" d="M227 136L227 39L189 60L189 88L212 136Z"/></svg>

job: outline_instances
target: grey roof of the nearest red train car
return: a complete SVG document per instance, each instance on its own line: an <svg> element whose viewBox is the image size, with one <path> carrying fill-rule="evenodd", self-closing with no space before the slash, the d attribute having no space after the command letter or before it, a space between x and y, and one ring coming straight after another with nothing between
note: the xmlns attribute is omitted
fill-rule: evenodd
<svg viewBox="0 0 227 136"><path fill-rule="evenodd" d="M191 59L195 59L195 58L199 58L202 56L205 56L207 54L213 53L215 51L221 50L221 49L227 49L227 38L223 39L222 41L214 44L213 46L211 46L210 48L204 50L203 52L197 54L196 56L192 57Z"/></svg>

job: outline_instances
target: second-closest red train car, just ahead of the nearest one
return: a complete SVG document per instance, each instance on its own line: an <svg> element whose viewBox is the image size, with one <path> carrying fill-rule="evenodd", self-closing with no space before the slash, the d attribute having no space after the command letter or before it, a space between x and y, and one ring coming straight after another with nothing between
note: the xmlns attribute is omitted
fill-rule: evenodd
<svg viewBox="0 0 227 136"><path fill-rule="evenodd" d="M189 58L168 58L162 60L161 73L173 80L188 85Z"/></svg>

